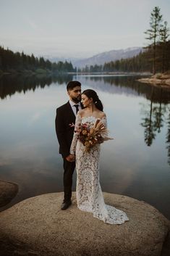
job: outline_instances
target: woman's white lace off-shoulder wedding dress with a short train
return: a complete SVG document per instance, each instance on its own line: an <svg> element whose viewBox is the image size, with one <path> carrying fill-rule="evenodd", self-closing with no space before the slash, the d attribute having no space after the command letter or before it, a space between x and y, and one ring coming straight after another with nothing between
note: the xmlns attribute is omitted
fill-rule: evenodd
<svg viewBox="0 0 170 256"><path fill-rule="evenodd" d="M75 129L80 123L88 122L93 126L96 120L93 116L81 117L77 114ZM106 127L106 117L103 117L101 121ZM85 152L85 146L77 139L77 133L74 133L70 153L76 155L77 207L85 212L93 212L93 217L103 220L105 223L122 224L129 220L126 213L115 207L105 205L103 199L99 183L100 149L101 145L95 144L90 152Z"/></svg>

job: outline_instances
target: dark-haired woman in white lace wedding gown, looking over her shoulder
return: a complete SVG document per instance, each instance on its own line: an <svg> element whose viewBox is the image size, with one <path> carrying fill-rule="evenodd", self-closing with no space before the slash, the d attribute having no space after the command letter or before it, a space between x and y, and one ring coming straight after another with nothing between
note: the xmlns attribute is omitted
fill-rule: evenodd
<svg viewBox="0 0 170 256"><path fill-rule="evenodd" d="M101 185L99 183L99 157L100 144L85 151L85 146L77 138L76 128L80 124L88 122L93 127L96 120L101 120L101 126L106 128L106 115L103 112L103 104L95 91L88 89L82 92L82 104L85 109L77 113L75 121L75 133L72 139L70 154L75 155L77 170L77 207L86 212L92 212L93 217L109 224L122 224L127 215L122 210L105 205Z"/></svg>

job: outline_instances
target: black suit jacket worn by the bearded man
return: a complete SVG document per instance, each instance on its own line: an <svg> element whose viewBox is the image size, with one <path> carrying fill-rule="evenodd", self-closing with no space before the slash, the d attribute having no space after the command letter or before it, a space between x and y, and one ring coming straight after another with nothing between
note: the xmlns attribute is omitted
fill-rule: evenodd
<svg viewBox="0 0 170 256"><path fill-rule="evenodd" d="M69 149L72 144L72 137L75 127L75 114L69 102L56 109L56 136L59 141L59 153L62 157L69 155Z"/></svg>

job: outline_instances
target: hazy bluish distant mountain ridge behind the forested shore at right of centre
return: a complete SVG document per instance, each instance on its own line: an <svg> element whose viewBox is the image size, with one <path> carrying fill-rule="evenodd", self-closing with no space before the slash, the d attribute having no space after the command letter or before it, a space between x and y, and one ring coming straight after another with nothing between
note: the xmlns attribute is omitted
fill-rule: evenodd
<svg viewBox="0 0 170 256"><path fill-rule="evenodd" d="M140 51L143 51L142 47L105 51L87 59L72 59L72 65L80 68L85 67L86 65L103 65L105 62L134 57L139 54Z"/></svg>

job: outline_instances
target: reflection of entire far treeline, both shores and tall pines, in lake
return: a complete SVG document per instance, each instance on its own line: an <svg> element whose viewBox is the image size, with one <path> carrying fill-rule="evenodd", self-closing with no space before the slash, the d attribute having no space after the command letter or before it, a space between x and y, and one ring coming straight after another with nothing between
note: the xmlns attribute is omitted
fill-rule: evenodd
<svg viewBox="0 0 170 256"><path fill-rule="evenodd" d="M163 125L167 124L166 148L168 149L168 162L170 165L170 90L149 86L137 81L137 75L4 75L0 78L0 98L6 99L16 92L35 91L36 88L50 86L51 83L67 84L69 80L82 80L86 85L97 86L96 89L111 93L145 96L148 103L142 104L140 125L144 128L144 140L147 146L153 144L156 135L161 133Z"/></svg>

